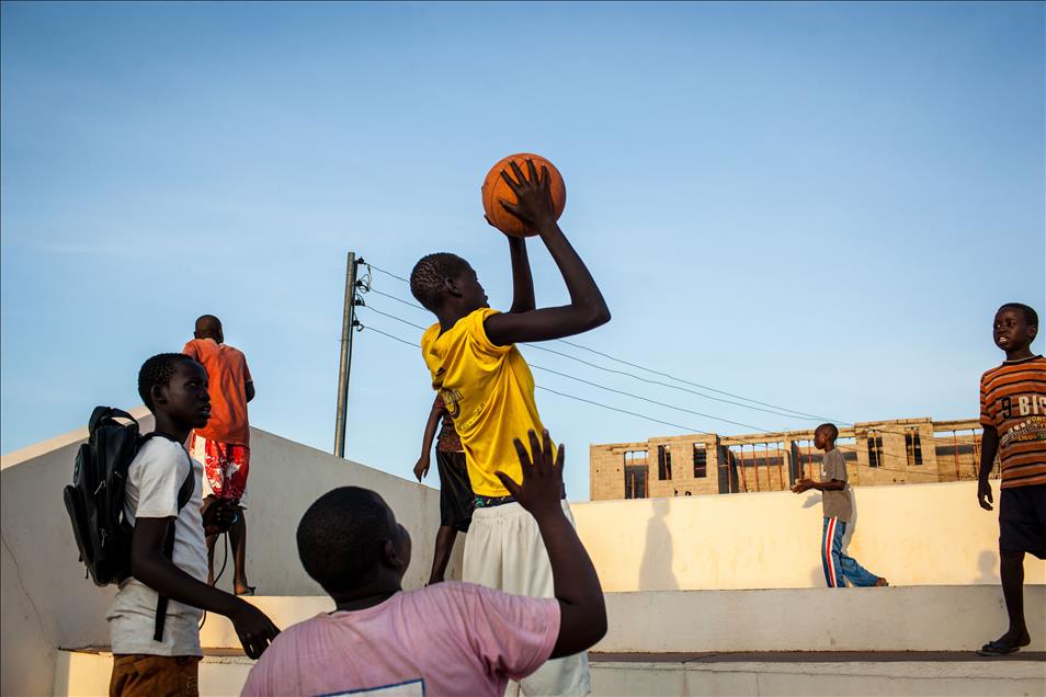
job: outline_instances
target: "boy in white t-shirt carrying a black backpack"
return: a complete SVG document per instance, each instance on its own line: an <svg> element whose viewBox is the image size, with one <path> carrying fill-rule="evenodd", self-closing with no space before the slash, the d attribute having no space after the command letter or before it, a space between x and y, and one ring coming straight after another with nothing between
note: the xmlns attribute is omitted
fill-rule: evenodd
<svg viewBox="0 0 1046 697"><path fill-rule="evenodd" d="M228 507L201 512L203 468L183 445L211 416L207 372L183 354L152 356L138 373L138 393L156 415L156 435L128 469L124 515L134 526L132 578L120 585L106 615L113 649L110 695L196 695L202 610L232 620L251 658L261 655L280 630L261 610L204 582L204 527L220 529L231 522ZM192 495L179 509L190 471ZM169 598L162 627L156 621L158 593Z"/></svg>

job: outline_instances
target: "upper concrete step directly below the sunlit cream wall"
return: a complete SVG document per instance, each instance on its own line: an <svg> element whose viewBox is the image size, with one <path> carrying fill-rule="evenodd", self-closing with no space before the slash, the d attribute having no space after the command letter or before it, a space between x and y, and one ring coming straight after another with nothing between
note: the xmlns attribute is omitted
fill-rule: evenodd
<svg viewBox="0 0 1046 697"><path fill-rule="evenodd" d="M277 627L333 609L327 596L254 597ZM1028 651L1046 651L1046 586L1024 589ZM974 651L1005 630L997 586L891 586L607 593L602 652ZM204 647L238 649L232 625L211 616Z"/></svg>

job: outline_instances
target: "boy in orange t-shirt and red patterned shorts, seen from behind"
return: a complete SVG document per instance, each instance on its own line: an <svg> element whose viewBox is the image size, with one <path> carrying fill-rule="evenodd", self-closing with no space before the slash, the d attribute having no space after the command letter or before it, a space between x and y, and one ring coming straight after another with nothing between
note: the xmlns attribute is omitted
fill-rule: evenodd
<svg viewBox="0 0 1046 697"><path fill-rule="evenodd" d="M225 499L237 509L229 528L232 545L232 586L237 595L253 595L247 583L247 476L250 471L251 427L247 402L254 399L254 381L243 353L225 343L221 320L204 315L196 320L193 340L182 353L207 369L211 392L211 421L193 432L190 452L204 464L204 496ZM217 536L207 537L207 582L214 583L214 546Z"/></svg>

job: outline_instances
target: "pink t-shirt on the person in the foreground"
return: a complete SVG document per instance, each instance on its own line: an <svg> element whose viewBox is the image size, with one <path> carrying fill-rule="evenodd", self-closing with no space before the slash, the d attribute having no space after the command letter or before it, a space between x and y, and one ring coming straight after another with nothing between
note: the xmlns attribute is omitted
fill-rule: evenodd
<svg viewBox="0 0 1046 697"><path fill-rule="evenodd" d="M288 627L251 669L242 695L500 697L510 678L548 660L558 637L555 598L440 583Z"/></svg>

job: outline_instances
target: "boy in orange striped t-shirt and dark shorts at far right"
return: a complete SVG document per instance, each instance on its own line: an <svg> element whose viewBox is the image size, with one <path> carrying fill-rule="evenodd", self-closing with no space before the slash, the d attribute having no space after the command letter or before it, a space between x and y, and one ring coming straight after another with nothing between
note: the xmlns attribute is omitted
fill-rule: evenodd
<svg viewBox="0 0 1046 697"><path fill-rule="evenodd" d="M999 575L1010 628L981 647L985 656L1005 655L1032 639L1024 621L1024 553L1046 559L1046 358L1032 353L1038 315L1008 302L996 312L992 335L1007 354L980 378L980 450L977 501L991 511L988 476L996 454L1002 464L999 495Z"/></svg>

